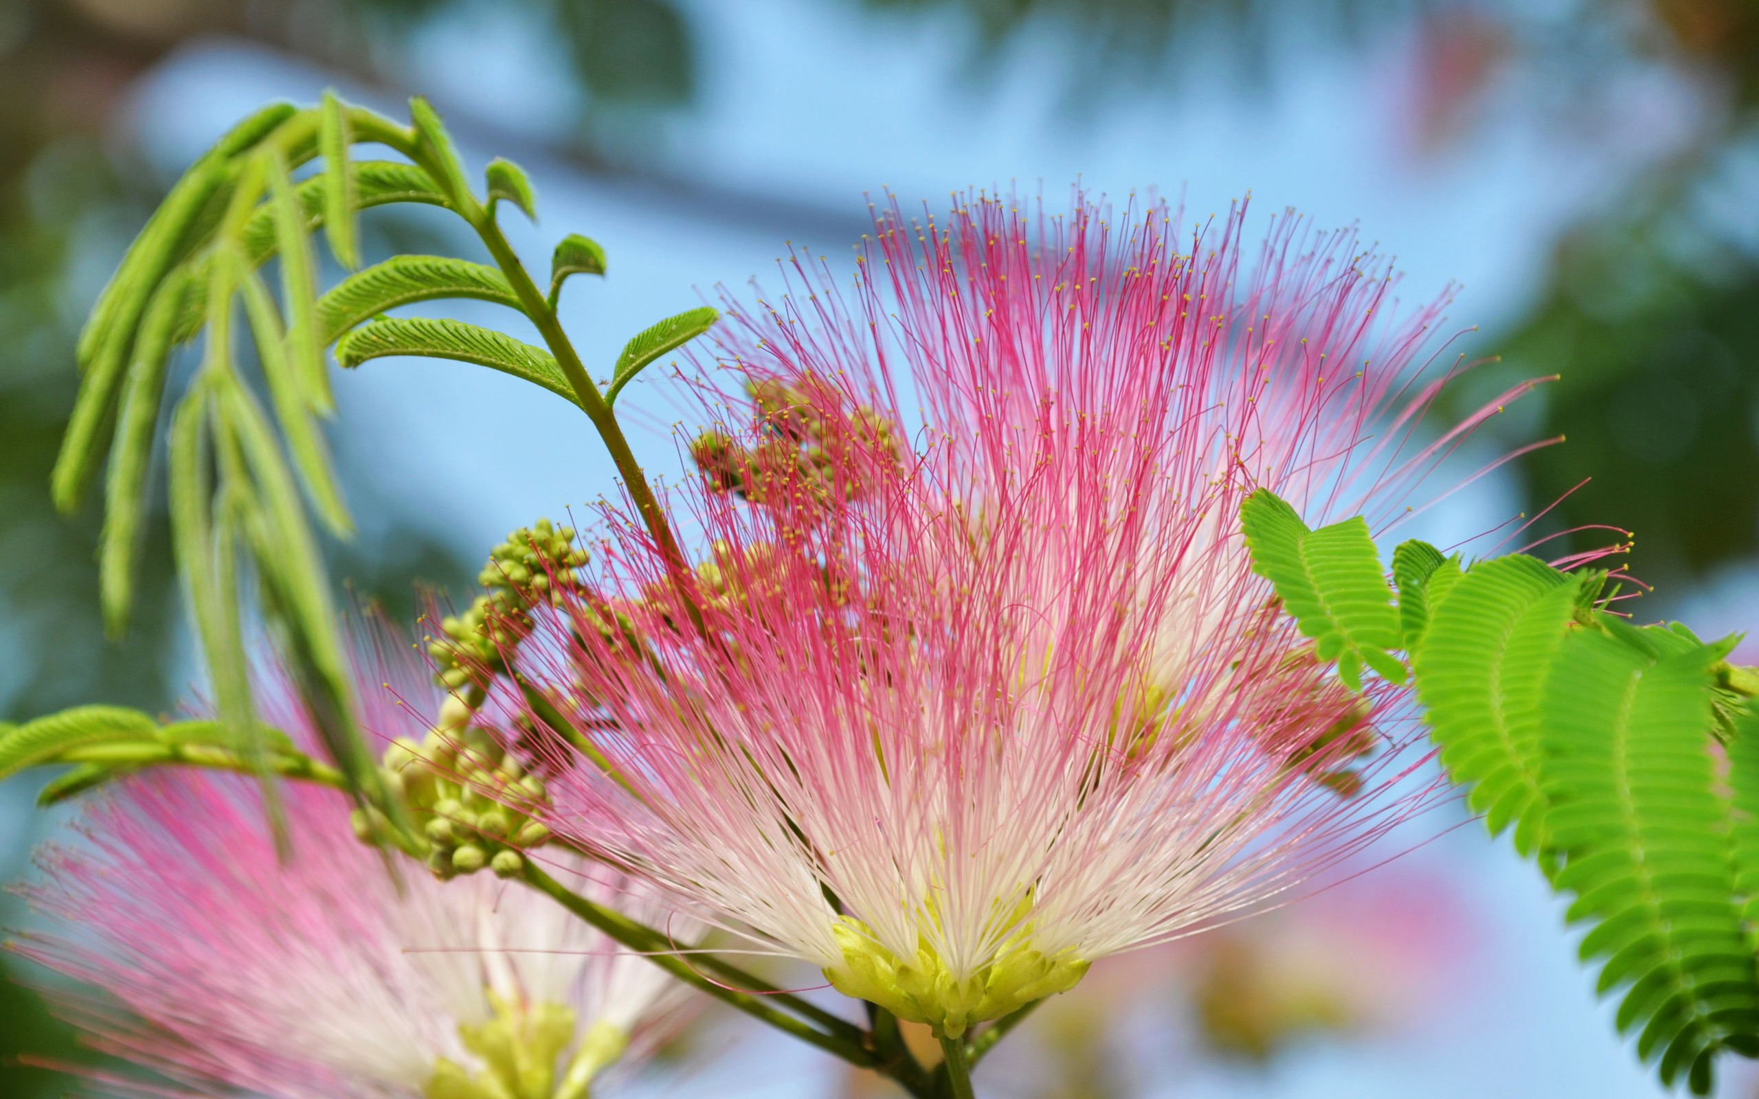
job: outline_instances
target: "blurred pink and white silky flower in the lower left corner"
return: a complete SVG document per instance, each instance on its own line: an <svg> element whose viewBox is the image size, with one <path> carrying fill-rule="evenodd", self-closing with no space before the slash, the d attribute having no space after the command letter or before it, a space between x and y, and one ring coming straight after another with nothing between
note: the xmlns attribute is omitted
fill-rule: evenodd
<svg viewBox="0 0 1759 1099"><path fill-rule="evenodd" d="M42 921L18 950L95 990L53 995L99 1048L188 1095L584 1099L682 1022L682 985L549 899L413 862L394 877L343 795L281 797L285 863L257 784L208 772L125 781L40 853ZM556 862L596 900L663 911L651 886Z"/></svg>

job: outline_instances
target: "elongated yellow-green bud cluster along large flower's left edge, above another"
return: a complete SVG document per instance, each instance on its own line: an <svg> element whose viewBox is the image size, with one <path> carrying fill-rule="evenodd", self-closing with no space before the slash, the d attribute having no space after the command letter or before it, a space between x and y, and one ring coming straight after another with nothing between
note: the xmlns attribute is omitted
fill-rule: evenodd
<svg viewBox="0 0 1759 1099"><path fill-rule="evenodd" d="M563 589L579 582L575 570L586 561L573 528L549 519L508 535L477 575L484 594L440 622L443 638L427 638L440 684L450 691L480 688L485 675L505 670L505 654L531 630L526 610L538 600L559 601Z"/></svg>

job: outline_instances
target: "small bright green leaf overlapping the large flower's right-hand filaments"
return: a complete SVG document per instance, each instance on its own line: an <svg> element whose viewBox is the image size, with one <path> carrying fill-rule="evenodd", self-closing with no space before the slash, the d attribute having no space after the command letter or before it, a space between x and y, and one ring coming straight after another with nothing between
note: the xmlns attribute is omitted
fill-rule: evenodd
<svg viewBox="0 0 1759 1099"><path fill-rule="evenodd" d="M1316 656L1337 661L1349 689L1361 689L1363 663L1391 682L1405 681L1405 666L1390 652L1402 642L1393 591L1360 515L1310 531L1295 508L1259 489L1240 505L1240 528L1252 571L1270 580Z"/></svg>

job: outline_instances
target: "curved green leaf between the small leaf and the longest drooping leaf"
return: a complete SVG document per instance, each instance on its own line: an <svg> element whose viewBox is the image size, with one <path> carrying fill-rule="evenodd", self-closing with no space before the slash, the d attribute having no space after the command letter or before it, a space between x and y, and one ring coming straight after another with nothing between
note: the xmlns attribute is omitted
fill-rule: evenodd
<svg viewBox="0 0 1759 1099"><path fill-rule="evenodd" d="M1442 767L1492 833L1516 821L1522 855L1537 851L1544 823L1539 689L1574 600L1576 584L1543 561L1483 561L1453 584L1412 656Z"/></svg>

